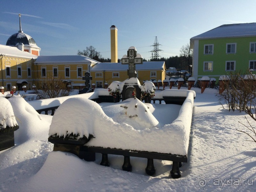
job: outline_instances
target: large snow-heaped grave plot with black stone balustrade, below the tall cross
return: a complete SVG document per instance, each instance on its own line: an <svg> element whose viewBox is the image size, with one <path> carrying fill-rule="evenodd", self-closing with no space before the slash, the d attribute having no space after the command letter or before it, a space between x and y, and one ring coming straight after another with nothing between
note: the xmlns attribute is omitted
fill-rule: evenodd
<svg viewBox="0 0 256 192"><path fill-rule="evenodd" d="M131 87L131 79L128 82L115 82L114 85L122 92L124 85ZM145 87L145 84L141 86L139 81L136 81L136 85L143 89L152 88ZM115 89L111 87L111 90ZM137 98L111 105L95 102L97 97L104 95L109 95L108 89L95 89L94 93L72 96L66 100L62 98L62 101L52 99L51 103L61 104L49 129L49 141L54 143L54 151L71 152L87 161L95 161L95 153L102 153L101 164L105 166L109 166L108 154L122 155L122 168L127 171L132 170L130 156L147 158L148 175L155 173L153 159L169 160L173 161L171 176L180 177L179 166L181 162L187 162L195 92L164 90L155 94L156 99L185 98L182 105L149 104ZM32 105L35 103L30 102ZM154 117L159 107L173 112L169 119ZM63 124L67 118L68 123Z"/></svg>

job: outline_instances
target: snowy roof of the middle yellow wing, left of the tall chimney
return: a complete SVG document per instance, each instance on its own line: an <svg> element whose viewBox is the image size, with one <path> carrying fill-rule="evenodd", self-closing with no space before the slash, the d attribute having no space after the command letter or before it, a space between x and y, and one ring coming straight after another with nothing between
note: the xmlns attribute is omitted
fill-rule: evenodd
<svg viewBox="0 0 256 192"><path fill-rule="evenodd" d="M98 63L83 55L38 56L34 63Z"/></svg>

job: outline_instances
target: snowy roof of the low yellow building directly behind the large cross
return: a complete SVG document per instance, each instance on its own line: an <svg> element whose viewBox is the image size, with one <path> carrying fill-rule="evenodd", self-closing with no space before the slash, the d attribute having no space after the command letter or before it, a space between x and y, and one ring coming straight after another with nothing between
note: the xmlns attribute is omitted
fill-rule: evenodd
<svg viewBox="0 0 256 192"><path fill-rule="evenodd" d="M145 61L142 64L136 64L137 70L157 70L164 69L164 61ZM91 69L91 71L126 71L128 64L121 63L97 63Z"/></svg>

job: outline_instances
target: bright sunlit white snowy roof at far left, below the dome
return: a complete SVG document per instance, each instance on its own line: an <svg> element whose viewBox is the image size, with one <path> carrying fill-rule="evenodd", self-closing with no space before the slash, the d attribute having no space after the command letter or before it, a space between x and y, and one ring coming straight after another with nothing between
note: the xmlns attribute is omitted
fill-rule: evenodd
<svg viewBox="0 0 256 192"><path fill-rule="evenodd" d="M34 58L36 59L38 56L30 54L26 51L21 51L16 47L0 45L0 54L8 55L8 56L15 56L15 57L23 57L23 58Z"/></svg>

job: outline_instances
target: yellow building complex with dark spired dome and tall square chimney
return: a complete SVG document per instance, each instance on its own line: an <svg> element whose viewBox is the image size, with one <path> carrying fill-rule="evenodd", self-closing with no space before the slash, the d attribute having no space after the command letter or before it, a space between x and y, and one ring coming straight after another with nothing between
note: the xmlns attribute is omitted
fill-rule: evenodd
<svg viewBox="0 0 256 192"><path fill-rule="evenodd" d="M20 16L20 15L19 15ZM46 78L49 74L59 77L70 84L74 89L85 87L82 77L86 72L90 73L96 87L104 87L105 82L128 79L128 65L117 63L117 28L110 27L111 36L111 61L112 63L100 63L82 55L40 56L40 48L34 39L21 30L10 36L6 45L0 45L0 86L4 91L10 91L12 86L22 90L22 86L31 89L37 80ZM161 80L166 77L164 61L143 62L136 64L136 75L142 84L143 80Z"/></svg>

